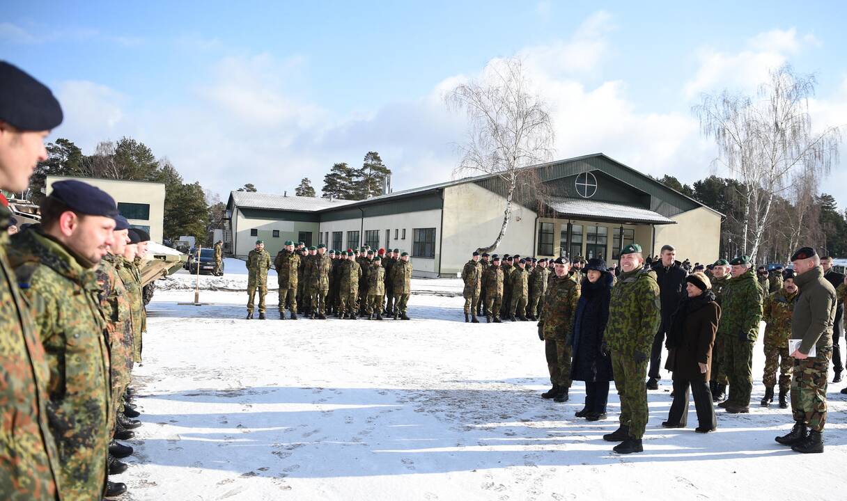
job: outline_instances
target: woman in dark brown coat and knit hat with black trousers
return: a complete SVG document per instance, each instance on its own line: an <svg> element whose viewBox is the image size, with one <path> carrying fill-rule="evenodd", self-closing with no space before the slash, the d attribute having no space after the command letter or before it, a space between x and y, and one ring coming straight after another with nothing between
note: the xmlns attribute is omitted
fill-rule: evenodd
<svg viewBox="0 0 847 501"><path fill-rule="evenodd" d="M667 334L667 364L673 372L673 404L667 428L684 428L688 421L689 387L694 394L697 420L696 432L708 433L717 428L715 408L709 390L711 347L715 343L721 307L711 292L711 282L704 273L692 273L686 278L688 297L679 301Z"/></svg>

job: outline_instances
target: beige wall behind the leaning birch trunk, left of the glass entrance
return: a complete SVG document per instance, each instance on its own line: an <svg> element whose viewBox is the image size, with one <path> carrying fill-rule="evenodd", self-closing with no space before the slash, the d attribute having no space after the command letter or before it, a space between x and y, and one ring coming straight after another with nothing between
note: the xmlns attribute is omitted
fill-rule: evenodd
<svg viewBox="0 0 847 501"><path fill-rule="evenodd" d="M461 273L473 250L490 245L503 223L506 199L473 183L457 184L444 190L444 239L441 241L441 274ZM512 206L512 221L497 254L532 256L535 212Z"/></svg>

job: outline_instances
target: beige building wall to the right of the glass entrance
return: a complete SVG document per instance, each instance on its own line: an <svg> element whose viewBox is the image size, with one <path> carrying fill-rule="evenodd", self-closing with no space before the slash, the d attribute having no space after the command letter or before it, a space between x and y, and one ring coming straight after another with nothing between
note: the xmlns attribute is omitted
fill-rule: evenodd
<svg viewBox="0 0 847 501"><path fill-rule="evenodd" d="M721 243L721 216L717 212L698 207L671 217L677 224L656 226L654 254L662 245L670 244L677 250L677 259L688 258L691 264L715 262Z"/></svg>

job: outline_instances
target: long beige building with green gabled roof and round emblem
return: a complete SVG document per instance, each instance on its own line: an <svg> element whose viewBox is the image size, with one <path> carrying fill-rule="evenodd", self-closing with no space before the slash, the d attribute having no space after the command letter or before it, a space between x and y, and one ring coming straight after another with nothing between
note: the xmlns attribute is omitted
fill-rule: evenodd
<svg viewBox="0 0 847 501"><path fill-rule="evenodd" d="M494 252L602 257L624 245L664 244L679 259L714 262L723 215L602 153L534 166L543 195L518 193ZM455 277L473 250L500 232L507 184L496 174L396 191L363 201L232 191L226 249L246 256L256 239L272 255L286 239L330 249L359 245L409 252L418 277Z"/></svg>

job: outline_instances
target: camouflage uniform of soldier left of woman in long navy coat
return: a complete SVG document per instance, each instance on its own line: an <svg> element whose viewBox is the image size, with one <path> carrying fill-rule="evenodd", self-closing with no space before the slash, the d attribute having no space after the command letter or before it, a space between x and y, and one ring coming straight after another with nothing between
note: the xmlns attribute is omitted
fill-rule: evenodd
<svg viewBox="0 0 847 501"><path fill-rule="evenodd" d="M571 334L577 302L579 284L573 278L556 278L544 296L544 309L538 321L544 336L550 382L562 389L571 387Z"/></svg>

